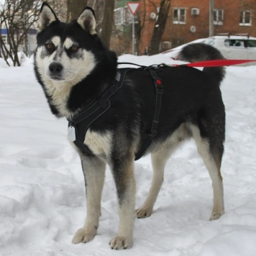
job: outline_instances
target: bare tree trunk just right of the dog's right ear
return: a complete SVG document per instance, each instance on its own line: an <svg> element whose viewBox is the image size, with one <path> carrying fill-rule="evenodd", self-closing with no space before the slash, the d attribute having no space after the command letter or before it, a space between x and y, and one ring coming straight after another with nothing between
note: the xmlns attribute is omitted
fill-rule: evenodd
<svg viewBox="0 0 256 256"><path fill-rule="evenodd" d="M107 3L105 2L104 17L102 21L101 35L100 35L102 42L107 48L109 48L110 46L110 37L111 37L113 20L114 20L114 0L108 0Z"/></svg>

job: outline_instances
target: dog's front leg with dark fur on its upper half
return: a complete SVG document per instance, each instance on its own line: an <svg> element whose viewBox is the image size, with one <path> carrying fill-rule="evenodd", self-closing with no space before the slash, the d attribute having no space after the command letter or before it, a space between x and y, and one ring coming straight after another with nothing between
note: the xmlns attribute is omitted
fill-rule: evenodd
<svg viewBox="0 0 256 256"><path fill-rule="evenodd" d="M111 170L119 204L119 232L111 239L110 246L115 250L128 249L132 247L135 218L134 157L126 155L112 160Z"/></svg>

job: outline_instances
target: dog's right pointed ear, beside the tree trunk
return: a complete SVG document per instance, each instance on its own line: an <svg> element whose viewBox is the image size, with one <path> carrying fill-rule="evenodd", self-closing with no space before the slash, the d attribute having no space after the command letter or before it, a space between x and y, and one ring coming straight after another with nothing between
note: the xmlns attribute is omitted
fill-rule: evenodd
<svg viewBox="0 0 256 256"><path fill-rule="evenodd" d="M91 35L96 35L96 17L91 7L86 7L78 17L78 24L89 32Z"/></svg>

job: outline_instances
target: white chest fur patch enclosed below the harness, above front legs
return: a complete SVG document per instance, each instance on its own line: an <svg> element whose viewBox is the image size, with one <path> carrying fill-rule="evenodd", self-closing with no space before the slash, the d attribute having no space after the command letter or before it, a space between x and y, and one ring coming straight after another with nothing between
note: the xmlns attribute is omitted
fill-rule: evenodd
<svg viewBox="0 0 256 256"><path fill-rule="evenodd" d="M95 155L109 156L111 152L111 132L91 132L90 129L86 132L84 143Z"/></svg>

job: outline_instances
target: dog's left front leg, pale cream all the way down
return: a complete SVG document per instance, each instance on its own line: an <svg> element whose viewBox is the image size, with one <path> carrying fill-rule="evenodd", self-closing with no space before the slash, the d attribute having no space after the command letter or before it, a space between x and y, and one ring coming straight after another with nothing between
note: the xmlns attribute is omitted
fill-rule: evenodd
<svg viewBox="0 0 256 256"><path fill-rule="evenodd" d="M86 221L81 229L78 229L72 242L90 242L96 235L101 215L101 193L104 185L106 164L98 157L86 157L81 155L83 175L86 183Z"/></svg>

